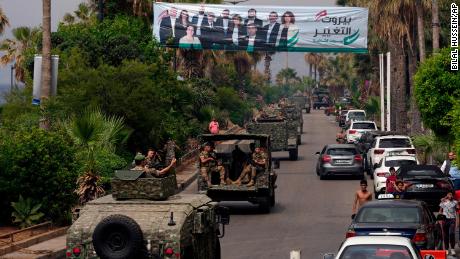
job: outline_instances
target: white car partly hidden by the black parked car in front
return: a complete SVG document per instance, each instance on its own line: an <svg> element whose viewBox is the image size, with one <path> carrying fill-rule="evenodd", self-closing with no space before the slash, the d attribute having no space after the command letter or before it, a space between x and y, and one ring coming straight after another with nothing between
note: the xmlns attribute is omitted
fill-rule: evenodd
<svg viewBox="0 0 460 259"><path fill-rule="evenodd" d="M387 177L390 175L390 167L398 170L402 165L418 165L414 155L390 155L383 157L374 168L374 192L375 197L385 193Z"/></svg>

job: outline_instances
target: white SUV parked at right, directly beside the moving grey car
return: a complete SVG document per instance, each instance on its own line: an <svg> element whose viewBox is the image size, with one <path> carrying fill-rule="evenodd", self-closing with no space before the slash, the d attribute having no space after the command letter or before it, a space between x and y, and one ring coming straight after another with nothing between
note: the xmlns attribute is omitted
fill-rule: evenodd
<svg viewBox="0 0 460 259"><path fill-rule="evenodd" d="M374 139L367 151L367 164L371 172L374 172L374 165L379 163L380 160L389 152L402 155L415 155L415 147L412 140L404 135L386 135L379 136Z"/></svg>

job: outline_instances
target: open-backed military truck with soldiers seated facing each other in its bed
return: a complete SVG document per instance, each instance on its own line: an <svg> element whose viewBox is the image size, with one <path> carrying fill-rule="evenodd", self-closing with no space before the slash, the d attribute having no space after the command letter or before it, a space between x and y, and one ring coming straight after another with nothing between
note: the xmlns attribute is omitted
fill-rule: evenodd
<svg viewBox="0 0 460 259"><path fill-rule="evenodd" d="M215 146L217 159L225 168L229 180L235 181L240 176L245 163L251 163L251 154L256 145L267 153L265 168L259 168L254 186L245 184L219 185L219 174L211 175L213 185L207 186L198 171L198 191L206 193L214 201L249 201L258 204L262 212L270 212L275 205L274 168L279 167L276 161L272 166L271 142L269 135L263 134L204 134L199 137L201 143L212 143ZM199 169L198 169L199 170Z"/></svg>

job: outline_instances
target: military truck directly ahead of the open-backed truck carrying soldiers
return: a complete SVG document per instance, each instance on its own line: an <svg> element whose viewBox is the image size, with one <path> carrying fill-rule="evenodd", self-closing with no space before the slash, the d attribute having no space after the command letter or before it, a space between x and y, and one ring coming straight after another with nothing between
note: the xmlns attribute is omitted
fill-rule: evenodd
<svg viewBox="0 0 460 259"><path fill-rule="evenodd" d="M297 131L297 127L292 127L284 117L258 118L248 123L246 130L251 134L270 135L272 151L288 151L289 160L298 159L297 133L292 134Z"/></svg>

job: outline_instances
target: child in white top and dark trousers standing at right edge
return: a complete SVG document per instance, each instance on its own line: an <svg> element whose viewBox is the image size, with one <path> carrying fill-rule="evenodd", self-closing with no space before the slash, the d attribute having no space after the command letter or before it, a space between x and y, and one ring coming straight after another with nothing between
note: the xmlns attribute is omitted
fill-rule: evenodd
<svg viewBox="0 0 460 259"><path fill-rule="evenodd" d="M446 216L443 228L444 247L450 254L455 255L455 226L457 223L457 209L459 208L458 202L454 200L454 194L449 191L446 197L441 199L439 204L439 213Z"/></svg>

